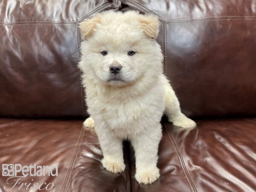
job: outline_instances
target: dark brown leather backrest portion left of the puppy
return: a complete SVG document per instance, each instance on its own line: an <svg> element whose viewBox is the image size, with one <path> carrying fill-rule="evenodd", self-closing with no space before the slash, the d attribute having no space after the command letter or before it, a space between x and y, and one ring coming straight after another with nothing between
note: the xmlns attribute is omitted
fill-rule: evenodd
<svg viewBox="0 0 256 192"><path fill-rule="evenodd" d="M3 0L0 6L0 116L86 116L78 25L115 7L105 0Z"/></svg>

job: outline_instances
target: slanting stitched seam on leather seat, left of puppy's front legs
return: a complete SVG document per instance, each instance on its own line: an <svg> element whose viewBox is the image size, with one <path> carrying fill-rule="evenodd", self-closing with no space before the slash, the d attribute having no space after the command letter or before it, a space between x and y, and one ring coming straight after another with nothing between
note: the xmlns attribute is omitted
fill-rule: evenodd
<svg viewBox="0 0 256 192"><path fill-rule="evenodd" d="M72 160L70 162L70 167L67 171L67 175L66 175L65 180L63 182L63 186L62 186L62 189L61 189L61 191L63 191L63 192L65 192L65 191L68 192L68 186L69 186L69 183L70 183L70 176L71 176L71 173L73 171L73 166L74 166L75 160L77 158L77 155L78 155L78 152L79 152L79 149L80 149L80 146L81 146L80 144L81 144L81 142L83 140L83 137L84 137L84 132L85 132L85 129L84 129L84 127L82 127L79 138L78 138L78 141L76 143L76 148L75 148Z"/></svg>

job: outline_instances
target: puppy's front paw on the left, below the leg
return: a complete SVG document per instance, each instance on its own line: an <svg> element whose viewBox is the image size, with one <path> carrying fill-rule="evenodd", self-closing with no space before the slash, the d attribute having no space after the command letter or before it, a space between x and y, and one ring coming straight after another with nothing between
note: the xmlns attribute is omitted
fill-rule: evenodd
<svg viewBox="0 0 256 192"><path fill-rule="evenodd" d="M125 163L122 161L102 159L102 165L105 169L112 173L121 173L125 170Z"/></svg>

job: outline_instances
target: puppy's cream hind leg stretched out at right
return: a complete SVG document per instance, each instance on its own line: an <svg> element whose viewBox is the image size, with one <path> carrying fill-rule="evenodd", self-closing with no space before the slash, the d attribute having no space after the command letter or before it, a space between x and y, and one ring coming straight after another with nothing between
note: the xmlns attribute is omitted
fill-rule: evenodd
<svg viewBox="0 0 256 192"><path fill-rule="evenodd" d="M196 123L180 111L180 102L169 83L165 84L165 114L173 125L183 128L194 128Z"/></svg>

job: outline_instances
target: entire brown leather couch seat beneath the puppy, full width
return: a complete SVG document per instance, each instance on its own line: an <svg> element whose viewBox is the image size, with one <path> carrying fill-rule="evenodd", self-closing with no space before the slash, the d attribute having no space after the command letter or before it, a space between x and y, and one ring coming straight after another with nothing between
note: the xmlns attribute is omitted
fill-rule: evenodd
<svg viewBox="0 0 256 192"><path fill-rule="evenodd" d="M163 121L160 179L152 185L135 180L134 152L127 142L125 172L106 171L96 133L81 128L81 120L0 119L0 163L58 163L58 177L21 180L54 183L52 192L254 192L256 118L198 120L197 124L187 130ZM20 185L11 189L7 178L0 177L3 192L4 187L25 191L18 190Z"/></svg>

